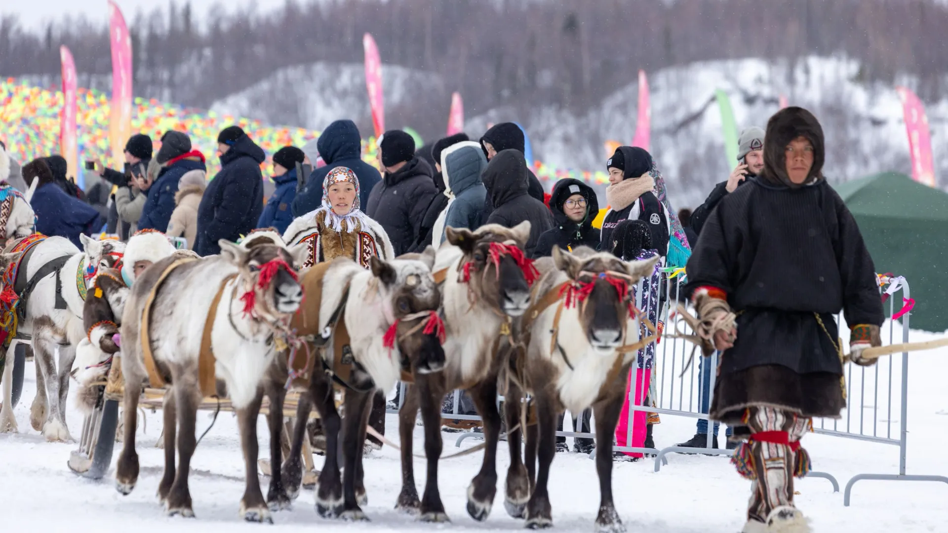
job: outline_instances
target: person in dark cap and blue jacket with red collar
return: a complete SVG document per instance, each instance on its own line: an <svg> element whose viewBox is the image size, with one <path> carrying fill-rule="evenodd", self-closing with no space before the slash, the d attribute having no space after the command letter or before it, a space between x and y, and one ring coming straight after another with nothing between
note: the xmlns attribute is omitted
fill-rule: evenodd
<svg viewBox="0 0 948 533"><path fill-rule="evenodd" d="M182 175L193 170L207 172L204 154L191 150L191 138L187 134L165 132L165 135L161 136L158 155L148 164L149 179L137 183L138 188L148 195L145 205L141 208L138 230L158 230L162 233L168 231L168 223L174 212L174 195L178 191L178 181Z"/></svg>

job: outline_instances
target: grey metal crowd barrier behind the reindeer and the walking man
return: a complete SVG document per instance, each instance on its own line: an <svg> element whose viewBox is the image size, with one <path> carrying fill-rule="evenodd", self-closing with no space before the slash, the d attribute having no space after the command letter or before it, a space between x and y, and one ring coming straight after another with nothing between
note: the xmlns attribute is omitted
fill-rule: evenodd
<svg viewBox="0 0 948 533"><path fill-rule="evenodd" d="M891 279L888 281L896 281ZM891 317L897 314L896 302L902 302L902 298L909 299L909 285L902 278L898 278L901 286L897 290L890 290L888 299L888 313L886 322L883 326L883 340L886 344L895 342L908 342L909 321L911 312L907 311L900 318L893 320ZM684 334L692 333L687 324L681 320L676 312L679 303L684 303L681 299L682 287L684 285L684 276L675 269L665 268L661 278L661 285L664 289L664 301L659 298L657 301L646 299L643 296L647 290L647 280L644 280L636 289L636 305L642 309L646 316L657 316L658 320L664 324L664 331L667 333L680 332ZM899 291L902 294L899 294ZM899 328L896 324L901 321ZM840 323L840 317L836 317L836 322ZM900 337L901 340L898 338ZM846 344L844 343L844 349ZM663 338L652 346L654 357L651 364L651 376L648 387L645 383L645 373L642 373L641 381L638 383L639 389L648 390L647 401L641 403L645 405L635 405L635 387L629 387L629 415L628 430L626 433L627 446L615 446L614 451L637 452L655 457L655 471L659 471L662 465L667 464L666 456L668 453L701 453L709 455L731 455L733 450L726 450L722 438L720 445L722 448L712 448L712 437L714 435L714 422L708 419L707 407L711 405L714 397L715 377L717 375L718 354L715 353L710 358L702 361L701 350L695 350L694 345L681 339ZM692 352L694 351L694 358ZM702 364L708 365L709 377L702 379L700 367ZM637 361L632 363L632 376L635 376ZM847 409L845 409L840 418L817 418L812 421L812 432L826 434L836 437L862 440L896 446L899 448L899 472L894 474L871 474L861 473L853 476L847 483L844 491L844 505L849 505L853 485L858 481L876 480L876 481L935 481L948 483L948 477L939 475L918 475L907 474L905 469L905 457L907 450L908 434L908 354L894 354L885 357L875 365L870 367L847 364L844 368L844 377L846 379ZM707 381L707 383L705 383ZM406 385L401 385L399 407L401 407L401 398L404 398ZM707 391L705 392L705 388ZM453 409L450 413L443 413L447 419L457 420L480 420L476 414L460 414L458 406L460 403L459 391L451 393L454 395ZM702 395L707 394L707 402L702 408ZM502 401L499 397L498 401ZM635 427L636 412L644 411L647 413L657 413L660 415L686 416L694 419L703 419L707 421L707 440L702 448L685 448L679 446L666 447L661 450L654 448L641 448L629 446L632 442L632 434ZM397 410L390 410L390 413L397 413ZM898 419L893 420L892 415L898 414ZM580 414L573 414L579 416ZM567 420L564 420L564 427ZM594 428L594 420L591 420L590 427ZM721 425L720 432L724 432ZM557 436L564 437L585 437L595 439L592 432L556 432ZM466 438L479 436L477 432L464 432L458 438L456 446L460 447ZM595 452L590 454L594 457ZM830 481L834 492L839 491L839 483L836 478L827 472L811 471L808 477L825 478Z"/></svg>

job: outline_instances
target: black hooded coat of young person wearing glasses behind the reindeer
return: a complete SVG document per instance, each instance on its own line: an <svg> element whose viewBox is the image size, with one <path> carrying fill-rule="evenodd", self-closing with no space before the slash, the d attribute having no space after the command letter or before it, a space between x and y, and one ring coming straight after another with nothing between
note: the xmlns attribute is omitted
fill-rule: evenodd
<svg viewBox="0 0 948 533"><path fill-rule="evenodd" d="M586 217L582 222L574 222L563 212L563 204L573 194L582 194L586 198ZM568 177L560 179L553 188L550 197L550 211L556 226L539 236L535 257L546 257L553 253L553 247L564 250L576 247L599 247L599 230L593 228L593 218L599 212L599 200L595 191L578 179Z"/></svg>

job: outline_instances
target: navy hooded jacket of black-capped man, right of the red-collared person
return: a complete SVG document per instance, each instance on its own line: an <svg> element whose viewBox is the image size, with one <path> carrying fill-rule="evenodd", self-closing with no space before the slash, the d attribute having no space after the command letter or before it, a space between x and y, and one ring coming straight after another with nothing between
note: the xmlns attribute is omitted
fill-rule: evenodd
<svg viewBox="0 0 948 533"><path fill-rule="evenodd" d="M197 208L198 255L221 252L217 241L236 241L257 227L264 211L264 175L260 164L266 156L246 135L221 156L221 172L208 184Z"/></svg>

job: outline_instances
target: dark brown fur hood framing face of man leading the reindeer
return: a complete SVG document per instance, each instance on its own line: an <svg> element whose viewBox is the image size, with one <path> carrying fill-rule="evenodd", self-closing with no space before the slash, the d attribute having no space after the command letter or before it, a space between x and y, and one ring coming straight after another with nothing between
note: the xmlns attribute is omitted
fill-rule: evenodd
<svg viewBox="0 0 948 533"><path fill-rule="evenodd" d="M813 145L813 166L803 185L797 185L787 176L785 149L790 141L798 137L808 138ZM826 151L823 146L823 126L813 114L802 107L787 107L778 111L767 121L764 135L764 170L760 178L771 185L798 189L823 179L823 162Z"/></svg>

